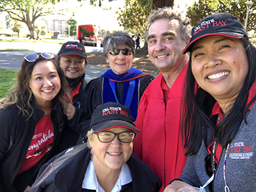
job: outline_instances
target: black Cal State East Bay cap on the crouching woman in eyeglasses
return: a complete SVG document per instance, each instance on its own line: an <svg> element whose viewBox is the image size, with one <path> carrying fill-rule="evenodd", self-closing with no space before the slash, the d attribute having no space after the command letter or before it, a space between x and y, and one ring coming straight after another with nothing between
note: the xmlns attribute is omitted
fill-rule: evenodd
<svg viewBox="0 0 256 192"><path fill-rule="evenodd" d="M140 129L134 125L134 118L131 116L129 107L112 102L96 107L92 114L90 127L96 133L116 127L140 132Z"/></svg>

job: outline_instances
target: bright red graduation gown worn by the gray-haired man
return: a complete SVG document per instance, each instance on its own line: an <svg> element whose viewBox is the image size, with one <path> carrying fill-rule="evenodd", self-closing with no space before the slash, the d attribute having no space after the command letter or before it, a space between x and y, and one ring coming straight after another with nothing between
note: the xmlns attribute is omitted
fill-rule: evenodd
<svg viewBox="0 0 256 192"><path fill-rule="evenodd" d="M169 91L164 103L162 74L147 87L138 107L136 127L140 129L134 143L134 153L162 180L160 191L174 178L179 178L186 163L180 132L182 89L187 65Z"/></svg>

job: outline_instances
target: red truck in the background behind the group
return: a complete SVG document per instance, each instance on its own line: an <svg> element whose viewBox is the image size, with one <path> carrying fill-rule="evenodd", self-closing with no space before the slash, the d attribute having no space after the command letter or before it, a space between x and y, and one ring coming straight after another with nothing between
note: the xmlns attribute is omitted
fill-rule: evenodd
<svg viewBox="0 0 256 192"><path fill-rule="evenodd" d="M103 36L100 35L100 29L97 25L78 25L77 29L77 39L83 45L96 46L97 41L100 41L100 46L102 47Z"/></svg>

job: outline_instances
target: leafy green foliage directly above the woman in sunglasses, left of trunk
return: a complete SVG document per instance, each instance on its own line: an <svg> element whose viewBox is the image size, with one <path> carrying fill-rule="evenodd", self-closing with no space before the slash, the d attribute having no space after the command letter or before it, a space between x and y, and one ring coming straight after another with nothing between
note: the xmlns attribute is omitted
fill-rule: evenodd
<svg viewBox="0 0 256 192"><path fill-rule="evenodd" d="M147 17L151 12L151 3L147 3L144 7L138 4L136 0L125 0L125 7L118 8L118 24L125 31L132 34L145 34L147 30Z"/></svg>

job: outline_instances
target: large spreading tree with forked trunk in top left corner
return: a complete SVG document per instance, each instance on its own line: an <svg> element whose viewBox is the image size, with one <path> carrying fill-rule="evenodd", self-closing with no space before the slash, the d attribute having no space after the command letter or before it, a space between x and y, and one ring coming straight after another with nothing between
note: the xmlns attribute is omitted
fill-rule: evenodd
<svg viewBox="0 0 256 192"><path fill-rule="evenodd" d="M54 0L0 0L0 12L7 12L11 19L25 23L34 38L34 21L41 16L55 12ZM47 5L52 4L51 9Z"/></svg>

